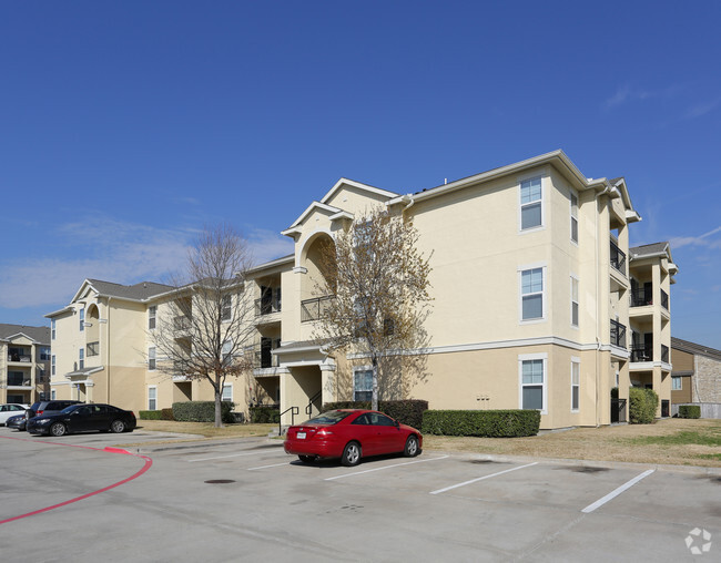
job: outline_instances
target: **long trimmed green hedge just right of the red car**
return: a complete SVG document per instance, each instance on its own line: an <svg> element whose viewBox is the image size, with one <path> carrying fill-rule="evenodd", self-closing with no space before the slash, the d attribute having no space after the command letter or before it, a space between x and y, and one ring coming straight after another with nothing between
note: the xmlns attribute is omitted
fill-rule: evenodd
<svg viewBox="0 0 721 563"><path fill-rule="evenodd" d="M426 434L517 438L536 436L539 427L537 410L427 410L423 413Z"/></svg>

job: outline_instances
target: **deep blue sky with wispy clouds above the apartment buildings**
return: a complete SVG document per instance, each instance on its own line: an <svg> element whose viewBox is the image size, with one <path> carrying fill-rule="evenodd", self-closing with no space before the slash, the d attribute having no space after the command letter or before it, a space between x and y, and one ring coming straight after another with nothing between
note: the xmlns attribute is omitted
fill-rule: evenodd
<svg viewBox="0 0 721 563"><path fill-rule="evenodd" d="M0 321L163 280L204 225L258 260L341 177L399 193L562 149L670 240L721 348L721 2L0 3Z"/></svg>

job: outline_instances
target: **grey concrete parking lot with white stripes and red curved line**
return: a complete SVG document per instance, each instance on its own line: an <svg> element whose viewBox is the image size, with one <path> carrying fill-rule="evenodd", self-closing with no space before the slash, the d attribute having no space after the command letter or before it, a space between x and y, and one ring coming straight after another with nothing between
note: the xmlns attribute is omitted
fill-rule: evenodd
<svg viewBox="0 0 721 563"><path fill-rule="evenodd" d="M0 428L3 560L718 561L721 553L719 470L439 451L348 469L303 464L280 440L162 443L167 438L50 439Z"/></svg>

